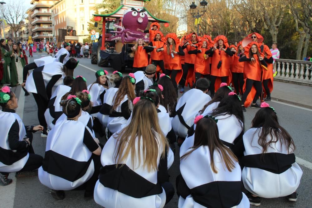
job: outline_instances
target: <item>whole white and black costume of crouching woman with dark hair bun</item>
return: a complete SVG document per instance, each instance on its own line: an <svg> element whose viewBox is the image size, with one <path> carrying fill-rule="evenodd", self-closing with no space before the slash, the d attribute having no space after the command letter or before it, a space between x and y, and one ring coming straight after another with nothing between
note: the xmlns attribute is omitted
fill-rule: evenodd
<svg viewBox="0 0 312 208"><path fill-rule="evenodd" d="M45 157L38 170L40 182L53 190L72 190L92 177L96 180L92 152L98 145L91 135L80 121L57 122L46 140Z"/></svg>

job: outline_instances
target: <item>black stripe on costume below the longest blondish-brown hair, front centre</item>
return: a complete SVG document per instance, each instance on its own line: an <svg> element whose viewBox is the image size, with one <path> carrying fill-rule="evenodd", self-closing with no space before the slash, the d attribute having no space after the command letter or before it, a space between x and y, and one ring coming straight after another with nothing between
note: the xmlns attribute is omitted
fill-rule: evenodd
<svg viewBox="0 0 312 208"><path fill-rule="evenodd" d="M140 176L127 165L106 165L100 170L100 183L134 198L161 194L163 188Z"/></svg>

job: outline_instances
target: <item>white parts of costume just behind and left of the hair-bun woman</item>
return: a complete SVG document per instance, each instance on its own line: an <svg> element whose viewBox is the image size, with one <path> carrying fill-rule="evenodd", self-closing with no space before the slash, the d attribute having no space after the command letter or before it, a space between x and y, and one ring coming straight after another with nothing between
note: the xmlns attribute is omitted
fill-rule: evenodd
<svg viewBox="0 0 312 208"><path fill-rule="evenodd" d="M71 87L67 86L67 85L59 85L57 86L56 90L53 92L51 99L54 99L54 112L61 112L63 111L62 106L60 105L61 99L64 96L64 94L68 93L71 90ZM46 118L46 123L48 124L48 129L52 129L54 127L54 124L52 123L52 121L54 120L54 118L51 116L50 114L50 109L47 108L46 112L44 113L44 117Z"/></svg>

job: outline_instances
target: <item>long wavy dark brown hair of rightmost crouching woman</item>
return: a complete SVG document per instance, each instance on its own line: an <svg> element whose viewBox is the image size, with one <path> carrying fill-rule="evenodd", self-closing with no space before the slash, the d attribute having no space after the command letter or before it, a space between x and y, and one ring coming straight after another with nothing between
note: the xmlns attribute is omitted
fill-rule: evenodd
<svg viewBox="0 0 312 208"><path fill-rule="evenodd" d="M291 138L290 134L280 126L278 123L275 111L271 108L261 108L255 115L255 118L251 121L251 128L260 128L261 133L259 133L258 144L263 148L262 153L266 153L268 147L271 143L277 143L280 140L280 144L286 145L288 153L291 149L292 152L295 151L294 140ZM270 137L268 136L271 136ZM267 139L270 139L269 141ZM273 141L273 138L276 138Z"/></svg>

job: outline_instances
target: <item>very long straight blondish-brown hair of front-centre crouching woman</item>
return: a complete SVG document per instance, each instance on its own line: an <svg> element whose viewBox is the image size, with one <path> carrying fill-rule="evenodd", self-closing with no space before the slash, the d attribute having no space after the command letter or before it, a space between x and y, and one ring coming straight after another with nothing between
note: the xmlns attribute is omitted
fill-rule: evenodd
<svg viewBox="0 0 312 208"><path fill-rule="evenodd" d="M147 167L149 172L158 170L158 152L160 152L161 157L164 157L164 153L169 147L168 140L159 126L156 108L147 99L141 99L134 105L129 125L114 137L119 140L119 144L116 144L117 148L115 148L117 150L114 152L116 164L124 163L130 154L133 166L140 165L140 147L142 146L143 166ZM138 141L137 146L135 145L136 141ZM135 160L136 155L139 161Z"/></svg>

